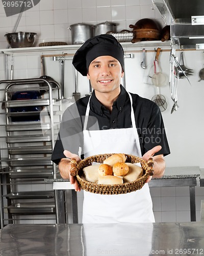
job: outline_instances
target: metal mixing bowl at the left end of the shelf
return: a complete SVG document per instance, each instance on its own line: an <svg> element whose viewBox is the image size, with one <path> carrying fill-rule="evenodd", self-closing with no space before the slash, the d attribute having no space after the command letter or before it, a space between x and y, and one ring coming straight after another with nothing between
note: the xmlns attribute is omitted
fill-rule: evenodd
<svg viewBox="0 0 204 256"><path fill-rule="evenodd" d="M22 48L32 47L37 34L31 32L17 32L7 33L5 36L11 48Z"/></svg>

